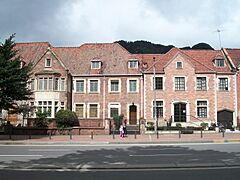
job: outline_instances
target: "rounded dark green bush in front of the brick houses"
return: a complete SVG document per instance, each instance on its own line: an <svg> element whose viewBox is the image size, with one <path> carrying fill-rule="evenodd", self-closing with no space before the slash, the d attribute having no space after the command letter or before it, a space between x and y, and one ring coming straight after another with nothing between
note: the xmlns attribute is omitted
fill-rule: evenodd
<svg viewBox="0 0 240 180"><path fill-rule="evenodd" d="M72 127L78 120L75 112L70 110L60 110L56 114L56 123L58 128Z"/></svg>

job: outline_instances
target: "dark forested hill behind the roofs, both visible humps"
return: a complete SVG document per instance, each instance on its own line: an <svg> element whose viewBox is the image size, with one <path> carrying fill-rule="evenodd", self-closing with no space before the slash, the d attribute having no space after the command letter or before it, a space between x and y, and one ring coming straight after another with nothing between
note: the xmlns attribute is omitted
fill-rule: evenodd
<svg viewBox="0 0 240 180"><path fill-rule="evenodd" d="M170 49L172 49L173 45L164 46L162 44L154 44L148 41L116 41L121 44L125 49L127 49L130 53L133 54L165 54ZM213 50L213 48L206 43L198 43L192 47L187 46L180 49L188 50L188 49L208 49Z"/></svg>

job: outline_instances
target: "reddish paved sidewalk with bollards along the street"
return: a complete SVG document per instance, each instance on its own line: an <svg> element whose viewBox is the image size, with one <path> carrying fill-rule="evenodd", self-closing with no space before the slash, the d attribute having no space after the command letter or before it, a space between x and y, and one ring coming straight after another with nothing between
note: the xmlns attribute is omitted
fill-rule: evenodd
<svg viewBox="0 0 240 180"><path fill-rule="evenodd" d="M9 139L11 138L11 139ZM0 135L0 144L175 144L175 143L240 143L240 133L206 133L178 134L159 133L144 135L128 135L120 138L119 135Z"/></svg>

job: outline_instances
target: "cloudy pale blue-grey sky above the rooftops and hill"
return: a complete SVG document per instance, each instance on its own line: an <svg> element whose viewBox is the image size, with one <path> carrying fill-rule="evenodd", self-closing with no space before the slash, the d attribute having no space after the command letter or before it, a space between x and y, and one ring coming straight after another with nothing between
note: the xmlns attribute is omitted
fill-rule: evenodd
<svg viewBox="0 0 240 180"><path fill-rule="evenodd" d="M0 0L0 42L16 33L16 42L53 46L146 40L240 48L239 7L240 0Z"/></svg>

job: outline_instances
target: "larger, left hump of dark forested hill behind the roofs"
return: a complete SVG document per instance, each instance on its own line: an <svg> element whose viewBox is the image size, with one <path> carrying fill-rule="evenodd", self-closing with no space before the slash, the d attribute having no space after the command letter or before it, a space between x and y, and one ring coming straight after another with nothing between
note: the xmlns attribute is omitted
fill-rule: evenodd
<svg viewBox="0 0 240 180"><path fill-rule="evenodd" d="M133 54L164 54L172 49L174 46L164 46L161 44L153 44L148 41L117 41L121 46Z"/></svg>

